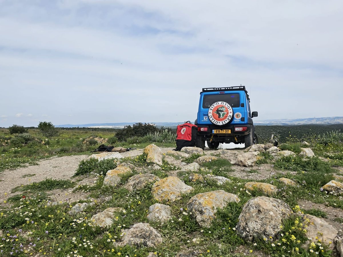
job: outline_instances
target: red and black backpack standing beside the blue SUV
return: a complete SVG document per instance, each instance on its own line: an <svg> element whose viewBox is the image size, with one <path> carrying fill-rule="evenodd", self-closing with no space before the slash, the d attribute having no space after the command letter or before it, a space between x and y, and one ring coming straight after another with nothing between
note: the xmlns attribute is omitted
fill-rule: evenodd
<svg viewBox="0 0 343 257"><path fill-rule="evenodd" d="M180 151L185 146L195 146L198 126L191 124L190 121L177 126L176 130L176 149Z"/></svg>

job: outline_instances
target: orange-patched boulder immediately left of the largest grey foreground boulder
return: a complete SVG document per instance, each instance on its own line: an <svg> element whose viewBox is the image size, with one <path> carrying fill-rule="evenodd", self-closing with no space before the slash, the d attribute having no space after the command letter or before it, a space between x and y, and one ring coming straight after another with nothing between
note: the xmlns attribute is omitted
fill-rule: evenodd
<svg viewBox="0 0 343 257"><path fill-rule="evenodd" d="M227 193L224 190L216 190L194 195L187 203L187 209L196 217L201 227L209 228L215 218L217 208L224 208L228 203L238 203L239 201L237 195Z"/></svg>

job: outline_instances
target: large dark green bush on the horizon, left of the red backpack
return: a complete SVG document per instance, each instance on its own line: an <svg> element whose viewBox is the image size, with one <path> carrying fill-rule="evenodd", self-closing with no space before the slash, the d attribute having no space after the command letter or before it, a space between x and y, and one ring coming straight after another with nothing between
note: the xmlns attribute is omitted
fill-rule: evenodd
<svg viewBox="0 0 343 257"><path fill-rule="evenodd" d="M155 125L146 124L146 123L135 123L132 125L125 126L122 130L116 133L116 137L120 141L125 141L126 138L137 136L143 137L149 133L158 132L158 129Z"/></svg>

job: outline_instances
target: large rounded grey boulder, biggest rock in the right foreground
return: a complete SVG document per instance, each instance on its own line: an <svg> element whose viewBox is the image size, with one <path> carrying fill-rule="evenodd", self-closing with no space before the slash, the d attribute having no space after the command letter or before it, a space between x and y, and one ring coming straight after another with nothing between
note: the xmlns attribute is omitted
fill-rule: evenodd
<svg viewBox="0 0 343 257"><path fill-rule="evenodd" d="M282 200L259 196L243 206L236 226L237 234L247 241L253 238L269 238L281 229L282 222L293 213Z"/></svg>

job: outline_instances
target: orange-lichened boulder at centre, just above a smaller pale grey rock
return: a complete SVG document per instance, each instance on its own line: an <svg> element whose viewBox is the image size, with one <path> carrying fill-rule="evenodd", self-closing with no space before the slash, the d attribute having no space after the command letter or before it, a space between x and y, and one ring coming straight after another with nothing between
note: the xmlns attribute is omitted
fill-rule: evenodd
<svg viewBox="0 0 343 257"><path fill-rule="evenodd" d="M152 195L157 201L175 201L181 199L181 194L189 193L193 187L186 185L179 178L169 176L157 181L152 186Z"/></svg>

